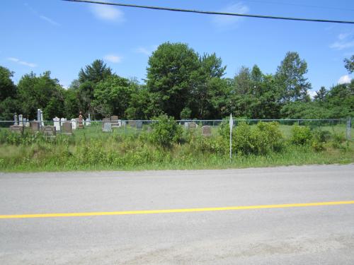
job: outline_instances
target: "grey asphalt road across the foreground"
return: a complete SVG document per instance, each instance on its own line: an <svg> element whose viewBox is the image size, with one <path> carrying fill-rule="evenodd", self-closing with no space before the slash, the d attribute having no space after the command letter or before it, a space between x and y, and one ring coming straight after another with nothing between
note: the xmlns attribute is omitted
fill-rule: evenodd
<svg viewBox="0 0 354 265"><path fill-rule="evenodd" d="M329 201L354 201L354 165L0 173L0 264L353 265L354 204L132 214ZM10 216L36 213L89 214Z"/></svg>

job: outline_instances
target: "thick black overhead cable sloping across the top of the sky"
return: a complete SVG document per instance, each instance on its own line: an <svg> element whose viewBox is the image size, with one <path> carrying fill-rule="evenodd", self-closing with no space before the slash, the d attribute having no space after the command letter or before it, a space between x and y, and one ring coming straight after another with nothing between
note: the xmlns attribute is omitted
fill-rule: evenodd
<svg viewBox="0 0 354 265"><path fill-rule="evenodd" d="M125 7L132 7L132 8L145 8L145 9L175 11L175 12L185 12L185 13L200 13L200 14L206 14L206 15L241 16L241 17L248 17L248 18L266 18L266 19L279 19L279 20L354 24L354 21L345 21L345 20L326 20L326 19L314 19L314 18L290 18L290 17L282 17L282 16L261 16L261 15L251 15L251 14L241 14L241 13L224 13L224 12L215 12L215 11L200 11L200 10L181 9L181 8L169 8L169 7L162 7L162 6L139 6L139 5L134 5L134 4L118 4L118 3L89 1L89 0L62 0L62 1L81 2L81 3L90 3L90 4L103 4L103 5L109 5L109 6L125 6Z"/></svg>

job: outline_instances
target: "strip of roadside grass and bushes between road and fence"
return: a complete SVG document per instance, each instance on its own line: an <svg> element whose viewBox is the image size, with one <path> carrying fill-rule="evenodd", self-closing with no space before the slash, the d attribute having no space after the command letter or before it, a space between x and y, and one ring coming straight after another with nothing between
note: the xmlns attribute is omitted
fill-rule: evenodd
<svg viewBox="0 0 354 265"><path fill-rule="evenodd" d="M184 129L173 118L161 116L152 131L139 134L81 134L45 138L0 130L1 171L219 169L353 163L353 141L340 130L287 126L277 122L240 122L232 137L229 125L205 137L200 129ZM331 128L331 127L329 127ZM86 131L85 131L86 130Z"/></svg>

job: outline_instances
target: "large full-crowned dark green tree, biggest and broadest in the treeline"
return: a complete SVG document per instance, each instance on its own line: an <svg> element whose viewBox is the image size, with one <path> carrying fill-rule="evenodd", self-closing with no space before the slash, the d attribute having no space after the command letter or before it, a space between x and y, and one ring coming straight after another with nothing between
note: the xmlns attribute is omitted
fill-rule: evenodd
<svg viewBox="0 0 354 265"><path fill-rule="evenodd" d="M183 43L165 42L149 57L147 88L156 95L161 111L177 119L188 105L198 70L198 54Z"/></svg>

